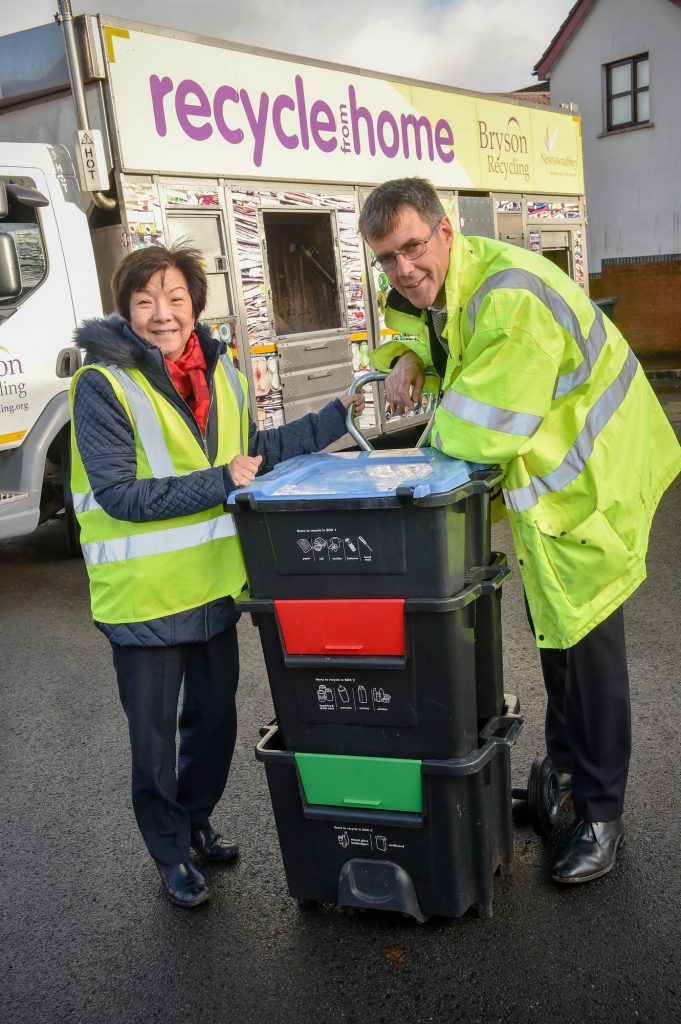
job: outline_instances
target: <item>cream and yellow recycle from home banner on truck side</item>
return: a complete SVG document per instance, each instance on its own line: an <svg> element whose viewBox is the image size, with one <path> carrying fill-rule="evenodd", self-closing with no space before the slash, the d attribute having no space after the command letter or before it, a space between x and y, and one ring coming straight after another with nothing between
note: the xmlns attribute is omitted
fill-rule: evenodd
<svg viewBox="0 0 681 1024"><path fill-rule="evenodd" d="M546 108L104 29L127 171L580 195L580 120Z"/></svg>

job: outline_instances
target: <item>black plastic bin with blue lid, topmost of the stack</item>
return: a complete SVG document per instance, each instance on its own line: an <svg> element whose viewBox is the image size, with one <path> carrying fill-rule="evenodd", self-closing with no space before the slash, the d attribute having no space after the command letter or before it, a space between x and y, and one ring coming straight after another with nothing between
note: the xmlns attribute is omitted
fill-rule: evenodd
<svg viewBox="0 0 681 1024"><path fill-rule="evenodd" d="M433 468L434 483L419 478ZM467 569L490 562L490 496L502 476L433 449L283 463L228 502L251 596L452 597Z"/></svg>

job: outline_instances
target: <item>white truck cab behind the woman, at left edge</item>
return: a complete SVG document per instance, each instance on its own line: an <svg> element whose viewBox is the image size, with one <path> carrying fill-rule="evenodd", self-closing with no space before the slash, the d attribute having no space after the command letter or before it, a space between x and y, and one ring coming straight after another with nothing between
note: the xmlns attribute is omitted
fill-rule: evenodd
<svg viewBox="0 0 681 1024"><path fill-rule="evenodd" d="M0 142L0 540L66 520L73 333L101 315L81 193L59 145Z"/></svg>

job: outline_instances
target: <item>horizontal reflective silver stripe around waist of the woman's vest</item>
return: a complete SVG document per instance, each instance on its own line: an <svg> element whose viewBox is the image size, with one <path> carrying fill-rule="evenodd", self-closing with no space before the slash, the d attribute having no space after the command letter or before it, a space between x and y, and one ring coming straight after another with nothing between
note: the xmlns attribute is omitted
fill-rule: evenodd
<svg viewBox="0 0 681 1024"><path fill-rule="evenodd" d="M225 537L235 537L237 529L230 515L219 515L206 522L175 526L174 529L159 529L152 534L135 534L133 537L118 537L110 541L93 541L83 545L83 557L88 565L103 565L109 562L123 562L130 558L146 558L150 555L164 555L171 551L198 548Z"/></svg>

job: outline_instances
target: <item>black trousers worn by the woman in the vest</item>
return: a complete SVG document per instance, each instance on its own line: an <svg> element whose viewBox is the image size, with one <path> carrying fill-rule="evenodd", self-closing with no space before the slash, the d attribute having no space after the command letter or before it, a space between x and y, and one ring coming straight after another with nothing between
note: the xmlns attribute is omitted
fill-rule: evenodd
<svg viewBox="0 0 681 1024"><path fill-rule="evenodd" d="M208 823L227 781L237 738L237 628L202 643L113 649L137 824L156 860L178 864L189 856L191 829Z"/></svg>

